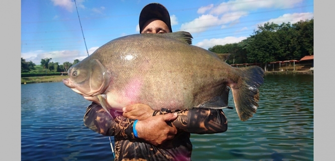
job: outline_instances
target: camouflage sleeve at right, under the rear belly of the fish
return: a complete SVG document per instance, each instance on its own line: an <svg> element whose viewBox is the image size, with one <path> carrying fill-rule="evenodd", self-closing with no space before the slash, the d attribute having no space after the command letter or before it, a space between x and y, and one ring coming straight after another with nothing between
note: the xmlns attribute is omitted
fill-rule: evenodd
<svg viewBox="0 0 335 161"><path fill-rule="evenodd" d="M225 132L228 128L227 118L222 109L191 108L170 111L163 108L160 114L178 113L178 118L171 122L179 130L194 134L212 134ZM156 113L154 113L156 115Z"/></svg>

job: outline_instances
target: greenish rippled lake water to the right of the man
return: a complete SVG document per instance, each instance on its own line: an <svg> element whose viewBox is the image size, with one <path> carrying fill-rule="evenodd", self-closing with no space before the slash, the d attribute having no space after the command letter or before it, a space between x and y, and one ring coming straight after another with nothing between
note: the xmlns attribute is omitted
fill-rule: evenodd
<svg viewBox="0 0 335 161"><path fill-rule="evenodd" d="M243 122L235 109L225 109L226 132L192 135L192 159L313 161L313 75L266 75L259 92L259 107L249 120ZM205 145L215 147L202 148Z"/></svg>

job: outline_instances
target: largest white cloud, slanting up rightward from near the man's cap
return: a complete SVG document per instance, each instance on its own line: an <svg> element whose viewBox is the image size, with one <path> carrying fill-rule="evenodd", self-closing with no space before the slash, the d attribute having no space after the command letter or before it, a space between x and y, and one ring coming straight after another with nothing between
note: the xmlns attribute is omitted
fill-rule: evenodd
<svg viewBox="0 0 335 161"><path fill-rule="evenodd" d="M251 10L262 8L290 8L303 0L229 0L219 5L202 6L197 13L202 14L190 22L181 24L180 30L200 33L211 27L235 25L241 17L247 16ZM205 14L207 13L207 14Z"/></svg>

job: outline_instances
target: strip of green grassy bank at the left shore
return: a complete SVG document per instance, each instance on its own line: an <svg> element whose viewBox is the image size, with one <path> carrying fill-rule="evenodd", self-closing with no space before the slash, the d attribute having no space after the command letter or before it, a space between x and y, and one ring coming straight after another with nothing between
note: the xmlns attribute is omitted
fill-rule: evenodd
<svg viewBox="0 0 335 161"><path fill-rule="evenodd" d="M68 75L54 75L42 77L21 77L21 84L25 83L42 83L42 82L61 82L63 79L69 78Z"/></svg>

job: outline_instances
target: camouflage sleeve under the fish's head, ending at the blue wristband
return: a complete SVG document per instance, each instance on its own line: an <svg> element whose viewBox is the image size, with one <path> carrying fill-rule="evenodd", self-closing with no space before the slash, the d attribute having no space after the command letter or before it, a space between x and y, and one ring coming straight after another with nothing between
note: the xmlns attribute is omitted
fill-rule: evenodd
<svg viewBox="0 0 335 161"><path fill-rule="evenodd" d="M92 103L86 108L84 125L89 129L105 136L122 136L125 139L134 139L134 119L123 117L116 112L111 116L100 106Z"/></svg>

